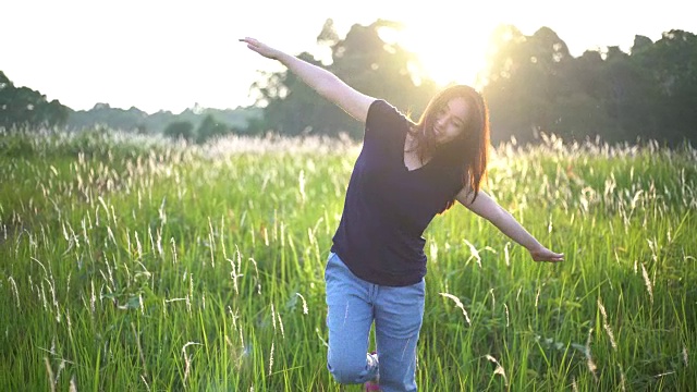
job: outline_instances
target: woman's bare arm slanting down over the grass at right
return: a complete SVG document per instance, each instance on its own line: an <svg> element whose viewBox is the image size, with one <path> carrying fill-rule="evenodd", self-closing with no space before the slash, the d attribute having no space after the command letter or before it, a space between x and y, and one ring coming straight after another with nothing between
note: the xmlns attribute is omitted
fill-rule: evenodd
<svg viewBox="0 0 697 392"><path fill-rule="evenodd" d="M499 206L484 191L477 193L477 198L473 201L474 193L468 188L462 189L456 199L470 211L485 218L496 225L503 234L524 246L535 261L563 261L564 254L554 253L540 244L525 228L513 218L513 216Z"/></svg>

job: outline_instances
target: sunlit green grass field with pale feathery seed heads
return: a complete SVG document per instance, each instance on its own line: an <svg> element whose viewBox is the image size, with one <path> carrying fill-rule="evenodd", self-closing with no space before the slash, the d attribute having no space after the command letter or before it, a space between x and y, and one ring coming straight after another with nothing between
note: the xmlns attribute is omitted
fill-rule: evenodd
<svg viewBox="0 0 697 392"><path fill-rule="evenodd" d="M323 265L357 152L0 134L0 390L339 390ZM566 260L438 216L420 390L695 390L697 150L509 144L486 189Z"/></svg>

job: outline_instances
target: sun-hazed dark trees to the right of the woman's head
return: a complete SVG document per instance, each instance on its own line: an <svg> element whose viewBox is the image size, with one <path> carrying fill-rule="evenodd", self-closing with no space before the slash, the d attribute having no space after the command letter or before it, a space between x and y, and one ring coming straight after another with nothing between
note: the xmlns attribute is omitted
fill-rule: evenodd
<svg viewBox="0 0 697 392"><path fill-rule="evenodd" d="M637 36L629 54L617 47L578 58L547 27L531 36L501 26L491 37L484 95L492 139L697 142L697 36L682 30L657 42Z"/></svg>

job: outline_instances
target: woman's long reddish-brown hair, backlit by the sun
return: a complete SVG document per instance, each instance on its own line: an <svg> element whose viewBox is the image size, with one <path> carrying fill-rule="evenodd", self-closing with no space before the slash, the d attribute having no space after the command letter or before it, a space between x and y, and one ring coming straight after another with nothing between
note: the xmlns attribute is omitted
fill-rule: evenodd
<svg viewBox="0 0 697 392"><path fill-rule="evenodd" d="M438 145L432 131L433 123L438 112L453 98L465 99L468 118L464 130L455 139ZM443 89L430 100L419 121L412 127L411 135L416 142L415 151L421 162L432 159L433 163L454 168L460 172L462 186L468 186L474 192L474 199L477 198L481 182L486 179L489 155L489 110L481 94L466 85L453 85ZM453 197L443 211L454 203Z"/></svg>

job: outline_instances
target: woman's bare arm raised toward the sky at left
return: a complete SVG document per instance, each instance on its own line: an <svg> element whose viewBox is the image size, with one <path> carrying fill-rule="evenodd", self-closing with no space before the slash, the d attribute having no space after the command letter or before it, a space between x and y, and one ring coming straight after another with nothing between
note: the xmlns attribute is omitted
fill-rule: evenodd
<svg viewBox="0 0 697 392"><path fill-rule="evenodd" d="M354 119L366 122L368 109L375 98L357 91L331 72L303 61L295 56L273 49L254 38L240 39L247 48L268 59L280 61L320 96L339 106Z"/></svg>

